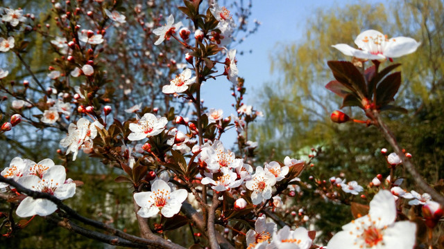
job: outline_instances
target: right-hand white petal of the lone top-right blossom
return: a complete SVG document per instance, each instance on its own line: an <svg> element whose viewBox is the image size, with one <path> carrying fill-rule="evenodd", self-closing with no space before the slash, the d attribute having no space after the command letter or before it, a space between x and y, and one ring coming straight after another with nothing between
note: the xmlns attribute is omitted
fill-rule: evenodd
<svg viewBox="0 0 444 249"><path fill-rule="evenodd" d="M390 58L401 57L416 51L420 42L410 37L393 37L388 40L384 49L384 55Z"/></svg>

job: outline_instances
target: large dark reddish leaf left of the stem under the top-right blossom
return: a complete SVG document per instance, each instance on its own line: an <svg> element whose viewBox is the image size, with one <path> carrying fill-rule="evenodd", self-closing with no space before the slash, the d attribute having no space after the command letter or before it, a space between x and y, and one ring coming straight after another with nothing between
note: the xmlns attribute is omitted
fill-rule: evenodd
<svg viewBox="0 0 444 249"><path fill-rule="evenodd" d="M367 97L366 83L364 77L352 62L327 62L334 78L341 82L344 86L356 93L360 98Z"/></svg>

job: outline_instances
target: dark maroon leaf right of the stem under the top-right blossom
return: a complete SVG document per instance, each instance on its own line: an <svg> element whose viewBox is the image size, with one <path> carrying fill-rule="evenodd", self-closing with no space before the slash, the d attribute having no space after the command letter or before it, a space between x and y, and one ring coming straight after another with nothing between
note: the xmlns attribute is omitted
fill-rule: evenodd
<svg viewBox="0 0 444 249"><path fill-rule="evenodd" d="M401 72L392 73L382 80L377 85L376 89L376 104L379 107L384 106L388 102L392 102L395 99L395 94L398 93L401 85Z"/></svg>

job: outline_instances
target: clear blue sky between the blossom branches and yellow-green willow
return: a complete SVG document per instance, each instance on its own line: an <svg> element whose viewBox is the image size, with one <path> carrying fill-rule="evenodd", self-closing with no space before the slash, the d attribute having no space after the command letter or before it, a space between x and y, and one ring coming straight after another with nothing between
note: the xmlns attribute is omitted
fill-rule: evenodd
<svg viewBox="0 0 444 249"><path fill-rule="evenodd" d="M383 0L367 0L366 3L386 3ZM239 76L246 79L247 95L246 104L257 106L258 100L255 94L264 82L273 80L270 72L269 55L278 42L291 44L303 39L306 20L316 13L318 8L331 9L332 11L347 4L359 3L353 0L275 0L253 1L253 9L250 21L259 20L257 33L250 35L245 42L235 47L237 50L252 50L252 53L237 55ZM357 34L358 35L358 34ZM350 37L350 40L354 37ZM230 82L222 77L216 81L205 83L202 89L205 105L209 108L223 109L224 116L234 113L231 104L233 98L230 93ZM259 110L260 111L260 110ZM266 118L266 117L264 117ZM222 136L226 147L231 147L236 138L234 130L228 131Z"/></svg>

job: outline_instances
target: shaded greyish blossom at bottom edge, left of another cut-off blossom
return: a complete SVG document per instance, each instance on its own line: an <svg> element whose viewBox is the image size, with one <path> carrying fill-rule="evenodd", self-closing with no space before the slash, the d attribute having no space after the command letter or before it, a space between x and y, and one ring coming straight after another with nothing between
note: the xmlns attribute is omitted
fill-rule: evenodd
<svg viewBox="0 0 444 249"><path fill-rule="evenodd" d="M269 243L271 235L278 230L273 222L266 222L266 216L260 216L255 222L255 229L246 233L247 246L254 248L258 243Z"/></svg>

